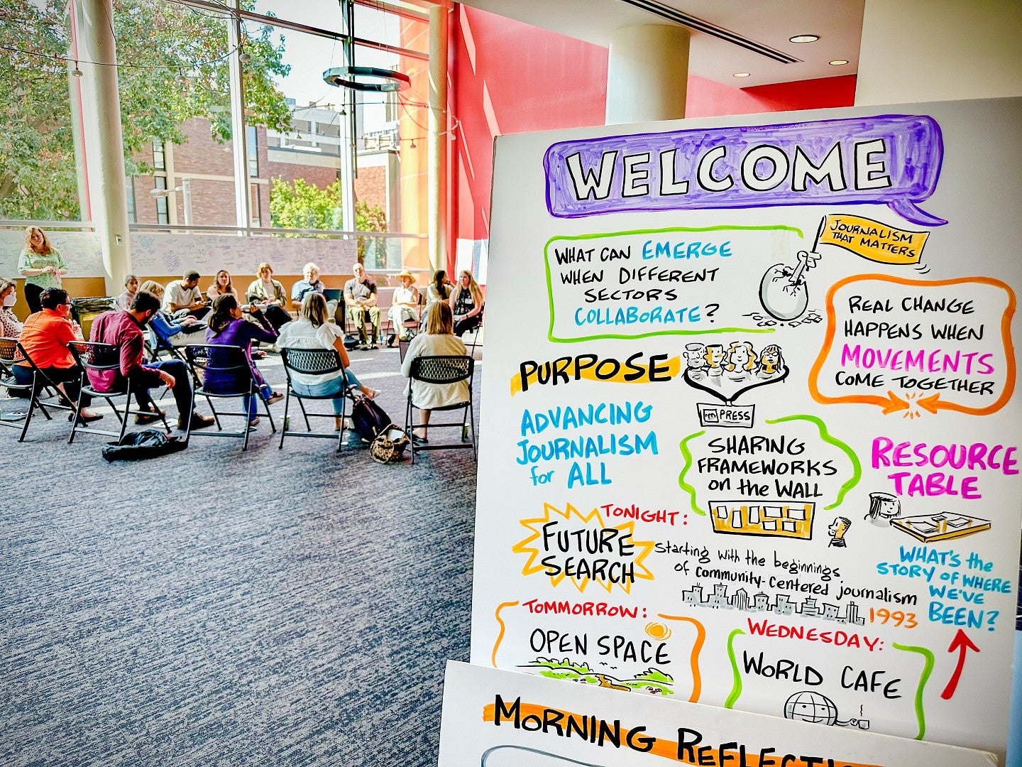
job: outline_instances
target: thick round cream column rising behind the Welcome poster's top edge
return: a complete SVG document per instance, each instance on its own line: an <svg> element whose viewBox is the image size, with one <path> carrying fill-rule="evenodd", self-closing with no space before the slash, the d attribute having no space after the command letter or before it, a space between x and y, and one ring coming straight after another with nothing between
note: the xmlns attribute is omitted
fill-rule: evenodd
<svg viewBox="0 0 1022 767"><path fill-rule="evenodd" d="M607 125L681 120L689 78L689 30L624 27L610 35Z"/></svg>

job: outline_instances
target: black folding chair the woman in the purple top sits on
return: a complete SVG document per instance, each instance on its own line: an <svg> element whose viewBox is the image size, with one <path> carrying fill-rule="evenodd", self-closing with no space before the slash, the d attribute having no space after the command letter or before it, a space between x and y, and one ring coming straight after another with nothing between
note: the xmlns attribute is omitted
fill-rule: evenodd
<svg viewBox="0 0 1022 767"><path fill-rule="evenodd" d="M260 395L259 381L256 379L251 368L248 367L248 359L245 357L244 350L241 347L221 344L191 344L185 347L185 357L188 359L188 365L192 368L193 377L202 381L201 386L196 386L192 390L191 410L195 409L196 397L205 397L206 402L210 403L210 409L213 411L213 417L217 421L216 432L200 432L198 434L202 437L239 438L243 440L241 450L247 450L248 435L251 434L252 427L248 423L248 409L244 406L245 400L242 399L243 412L218 411L213 404L213 400L215 399L236 399L238 397L254 397L258 401L262 402L263 408L266 411L266 417L270 420L270 428L273 430L274 434L277 433L277 426L273 422L273 415L270 413L270 406L266 404L266 401ZM206 379L211 373L213 373L215 378L234 379L238 381L239 386L233 391L220 389L219 386L216 390L210 390L206 386ZM240 432L225 432L220 422L220 416L222 415L244 416L244 427ZM191 420L189 419L185 439L189 439L190 436Z"/></svg>

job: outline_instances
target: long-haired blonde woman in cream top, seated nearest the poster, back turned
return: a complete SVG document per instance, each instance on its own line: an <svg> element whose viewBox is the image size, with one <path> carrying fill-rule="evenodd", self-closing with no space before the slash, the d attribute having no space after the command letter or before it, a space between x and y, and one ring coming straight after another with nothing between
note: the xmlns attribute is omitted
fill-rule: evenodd
<svg viewBox="0 0 1022 767"><path fill-rule="evenodd" d="M435 302L426 312L426 329L412 339L401 363L401 374L406 378L412 375L412 360L416 357L434 357L440 355L468 354L461 339L454 334L454 317L451 307L443 301ZM422 411L422 422L429 423L429 412L432 408L457 405L469 398L468 381L459 380L455 384L427 384L422 380L409 380L405 396L412 394L412 404ZM412 430L412 439L419 444L428 442L426 428Z"/></svg>

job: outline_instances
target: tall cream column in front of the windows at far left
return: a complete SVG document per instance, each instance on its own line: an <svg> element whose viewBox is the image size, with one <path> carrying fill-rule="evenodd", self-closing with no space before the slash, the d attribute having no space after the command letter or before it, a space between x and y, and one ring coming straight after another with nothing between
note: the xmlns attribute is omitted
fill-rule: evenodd
<svg viewBox="0 0 1022 767"><path fill-rule="evenodd" d="M128 243L128 200L125 196L124 139L121 94L118 90L117 45L109 19L112 0L74 3L78 51L82 57L82 96L87 104L83 133L92 223L103 250L106 292L122 290L131 272ZM84 213L84 212L83 212ZM72 275L74 276L74 275Z"/></svg>

